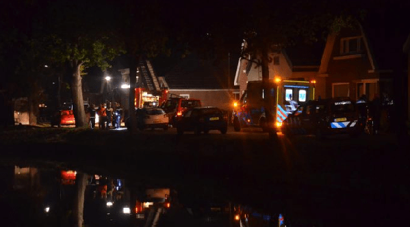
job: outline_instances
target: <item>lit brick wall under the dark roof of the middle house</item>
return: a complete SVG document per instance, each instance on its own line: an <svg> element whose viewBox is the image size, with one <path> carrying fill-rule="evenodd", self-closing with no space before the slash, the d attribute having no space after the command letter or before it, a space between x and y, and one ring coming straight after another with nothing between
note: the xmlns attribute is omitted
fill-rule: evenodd
<svg viewBox="0 0 410 227"><path fill-rule="evenodd" d="M238 92L238 90L231 90L232 92ZM189 95L189 98L198 98L201 99L201 103L203 106L212 106L218 107L220 109L229 110L233 108L233 100L231 99L231 95L229 95L229 91L227 89L215 89L215 90L175 90L170 89L170 94L177 94L177 95Z"/></svg>

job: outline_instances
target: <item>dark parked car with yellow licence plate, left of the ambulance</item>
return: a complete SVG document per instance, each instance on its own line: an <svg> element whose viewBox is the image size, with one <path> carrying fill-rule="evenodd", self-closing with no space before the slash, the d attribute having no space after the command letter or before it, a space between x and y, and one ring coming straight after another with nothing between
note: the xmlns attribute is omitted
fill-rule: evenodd
<svg viewBox="0 0 410 227"><path fill-rule="evenodd" d="M228 130L228 116L217 107L194 107L185 111L177 120L176 126L179 135L185 131L200 134L208 133L209 130L219 130L220 133L225 134Z"/></svg>

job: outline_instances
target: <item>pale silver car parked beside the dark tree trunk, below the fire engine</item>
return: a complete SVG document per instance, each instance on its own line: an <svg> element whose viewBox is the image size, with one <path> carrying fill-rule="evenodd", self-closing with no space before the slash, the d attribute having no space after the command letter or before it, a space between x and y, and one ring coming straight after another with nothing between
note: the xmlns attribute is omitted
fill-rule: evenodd
<svg viewBox="0 0 410 227"><path fill-rule="evenodd" d="M144 130L146 128L162 128L168 130L168 115L161 108L149 107L136 109L138 129ZM125 122L127 129L130 127L129 118Z"/></svg>

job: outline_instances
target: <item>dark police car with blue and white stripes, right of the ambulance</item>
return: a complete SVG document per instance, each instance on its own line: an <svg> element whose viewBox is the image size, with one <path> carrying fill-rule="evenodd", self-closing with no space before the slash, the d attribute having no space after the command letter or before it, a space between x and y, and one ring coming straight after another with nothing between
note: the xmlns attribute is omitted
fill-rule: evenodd
<svg viewBox="0 0 410 227"><path fill-rule="evenodd" d="M361 122L355 103L350 98L308 101L283 121L285 135L359 135Z"/></svg>

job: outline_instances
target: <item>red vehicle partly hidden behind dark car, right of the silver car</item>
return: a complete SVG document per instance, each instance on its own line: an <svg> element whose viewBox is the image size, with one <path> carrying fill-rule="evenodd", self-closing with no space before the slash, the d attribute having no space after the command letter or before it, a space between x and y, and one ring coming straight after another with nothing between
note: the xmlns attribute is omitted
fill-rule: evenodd
<svg viewBox="0 0 410 227"><path fill-rule="evenodd" d="M199 99L178 97L164 101L159 107L164 109L168 115L170 124L174 126L177 119L180 118L187 109L201 106L202 103Z"/></svg>

